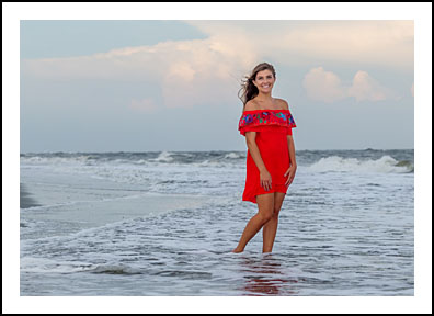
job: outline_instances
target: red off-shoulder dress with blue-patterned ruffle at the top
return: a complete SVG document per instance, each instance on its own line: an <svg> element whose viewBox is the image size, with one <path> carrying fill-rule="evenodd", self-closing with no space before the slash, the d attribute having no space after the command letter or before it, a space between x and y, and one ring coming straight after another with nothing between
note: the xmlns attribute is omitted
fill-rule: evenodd
<svg viewBox="0 0 434 316"><path fill-rule="evenodd" d="M289 150L286 135L293 135L296 127L289 110L252 110L244 111L238 129L245 136L245 132L256 132L256 145L261 153L266 170L272 177L272 189L265 191L261 187L260 172L248 149L245 188L242 201L256 203L256 195L272 192L286 194L285 172L289 168Z"/></svg>

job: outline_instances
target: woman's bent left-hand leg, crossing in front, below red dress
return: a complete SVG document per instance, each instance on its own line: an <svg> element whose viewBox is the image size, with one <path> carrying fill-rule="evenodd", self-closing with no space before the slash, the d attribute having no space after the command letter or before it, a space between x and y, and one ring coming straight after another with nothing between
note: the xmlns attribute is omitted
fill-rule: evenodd
<svg viewBox="0 0 434 316"><path fill-rule="evenodd" d="M274 192L256 195L258 214L254 215L247 224L244 232L242 232L240 241L232 252L244 251L245 245L253 238L254 235L269 222L273 216L274 210Z"/></svg>

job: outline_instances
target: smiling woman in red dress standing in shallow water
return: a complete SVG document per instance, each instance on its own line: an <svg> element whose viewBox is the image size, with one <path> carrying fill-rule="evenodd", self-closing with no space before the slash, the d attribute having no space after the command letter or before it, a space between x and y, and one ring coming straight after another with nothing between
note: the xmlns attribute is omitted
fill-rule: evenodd
<svg viewBox="0 0 434 316"><path fill-rule="evenodd" d="M242 201L256 203L258 214L247 224L232 252L242 252L261 228L262 252L272 251L278 212L297 170L292 133L296 124L288 103L272 97L275 81L274 67L262 63L253 69L241 89L244 106L239 131L245 136L248 146Z"/></svg>

